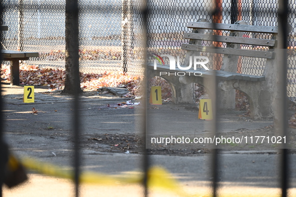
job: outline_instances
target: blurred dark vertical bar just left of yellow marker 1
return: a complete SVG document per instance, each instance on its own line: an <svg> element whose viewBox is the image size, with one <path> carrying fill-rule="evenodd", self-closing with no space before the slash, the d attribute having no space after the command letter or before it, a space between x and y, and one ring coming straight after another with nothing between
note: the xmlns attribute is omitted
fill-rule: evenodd
<svg viewBox="0 0 296 197"><path fill-rule="evenodd" d="M148 107L148 99L147 99L147 95L148 95L148 80L147 80L147 47L148 47L148 36L147 36L147 29L149 29L148 25L148 6L147 6L147 0L143 0L142 1L142 7L141 7L141 13L143 16L143 26L142 26L142 35L143 35L143 49L144 49L144 65L145 65L145 70L144 70L144 92L143 92L143 96L145 99L144 102L144 110L145 113L143 114L143 137L144 139L144 146L143 146L143 171L144 171L144 177L143 177L143 187L144 187L144 197L148 197L148 170L149 170L149 156L148 156L148 151L146 148L146 132L147 132L147 121L148 120L148 115L147 115L147 107Z"/></svg>

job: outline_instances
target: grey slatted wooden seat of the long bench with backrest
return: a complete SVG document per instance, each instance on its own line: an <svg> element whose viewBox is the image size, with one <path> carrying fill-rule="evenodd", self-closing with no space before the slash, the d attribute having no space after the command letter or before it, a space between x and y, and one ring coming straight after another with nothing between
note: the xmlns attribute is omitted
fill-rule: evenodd
<svg viewBox="0 0 296 197"><path fill-rule="evenodd" d="M149 69L154 69L154 64L153 63L148 63L148 68ZM255 76L255 75L247 75L247 74L241 74L241 73L234 73L234 72L226 72L222 70L205 70L203 68L197 68L196 70L189 69L189 70L181 70L178 67L176 67L176 70L169 70L170 66L169 65L162 65L162 64L157 64L157 70L159 71L164 71L164 72L185 72L186 75L189 75L189 73L194 73L194 72L201 72L201 76L196 76L196 77L210 77L213 76L215 73L217 76L217 79L220 80L231 80L231 79L238 79L238 80L246 80L246 81L264 81L265 76ZM193 76L194 75L190 75Z"/></svg>

